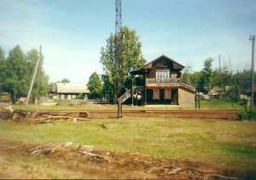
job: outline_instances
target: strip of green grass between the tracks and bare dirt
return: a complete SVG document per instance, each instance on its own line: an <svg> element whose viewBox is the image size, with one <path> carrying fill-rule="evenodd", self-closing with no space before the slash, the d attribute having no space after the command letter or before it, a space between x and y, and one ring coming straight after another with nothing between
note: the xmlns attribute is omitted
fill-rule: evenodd
<svg viewBox="0 0 256 180"><path fill-rule="evenodd" d="M256 171L255 129L255 121L126 117L49 125L0 122L0 139L35 144L73 142L107 151L211 161Z"/></svg>

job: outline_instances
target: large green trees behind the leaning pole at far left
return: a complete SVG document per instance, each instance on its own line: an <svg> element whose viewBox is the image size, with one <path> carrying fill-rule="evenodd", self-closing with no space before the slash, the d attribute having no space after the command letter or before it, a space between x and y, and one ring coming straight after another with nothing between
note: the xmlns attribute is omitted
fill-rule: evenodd
<svg viewBox="0 0 256 180"><path fill-rule="evenodd" d="M44 60L43 56L41 56L41 60ZM7 59L3 56L3 50L0 50L0 61L0 91L9 92L12 102L15 103L21 96L27 96L32 73L38 61L38 51L32 49L27 54L24 54L20 46L17 45L9 51ZM40 67L42 67L42 61ZM35 83L32 90L32 98L35 98L37 94L40 96L48 92L48 77L44 74L43 68L40 69L40 76L37 76L40 82L38 86L39 94Z"/></svg>

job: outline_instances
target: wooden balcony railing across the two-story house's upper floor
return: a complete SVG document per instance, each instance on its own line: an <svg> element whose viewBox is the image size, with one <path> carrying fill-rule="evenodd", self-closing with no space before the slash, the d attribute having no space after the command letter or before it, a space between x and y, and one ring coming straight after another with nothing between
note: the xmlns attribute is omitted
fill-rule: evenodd
<svg viewBox="0 0 256 180"><path fill-rule="evenodd" d="M182 78L146 78L147 87L179 86Z"/></svg>

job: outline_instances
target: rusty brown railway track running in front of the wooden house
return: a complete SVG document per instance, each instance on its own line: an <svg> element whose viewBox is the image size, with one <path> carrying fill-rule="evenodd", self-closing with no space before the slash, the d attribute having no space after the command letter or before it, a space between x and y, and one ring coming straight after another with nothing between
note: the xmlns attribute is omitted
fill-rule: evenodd
<svg viewBox="0 0 256 180"><path fill-rule="evenodd" d="M117 110L97 109L88 111L40 111L38 116L50 114L79 117L85 113L88 114L90 119L117 118ZM236 120L236 113L235 110L123 110L123 117Z"/></svg>

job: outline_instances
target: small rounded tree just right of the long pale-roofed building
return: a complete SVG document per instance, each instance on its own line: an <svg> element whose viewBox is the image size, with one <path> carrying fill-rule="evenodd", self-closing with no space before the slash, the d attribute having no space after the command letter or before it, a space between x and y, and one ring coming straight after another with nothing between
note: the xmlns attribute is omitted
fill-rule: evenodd
<svg viewBox="0 0 256 180"><path fill-rule="evenodd" d="M88 90L90 90L89 98L91 99L102 98L103 85L102 85L102 80L99 74L94 72L90 75L87 88Z"/></svg>

